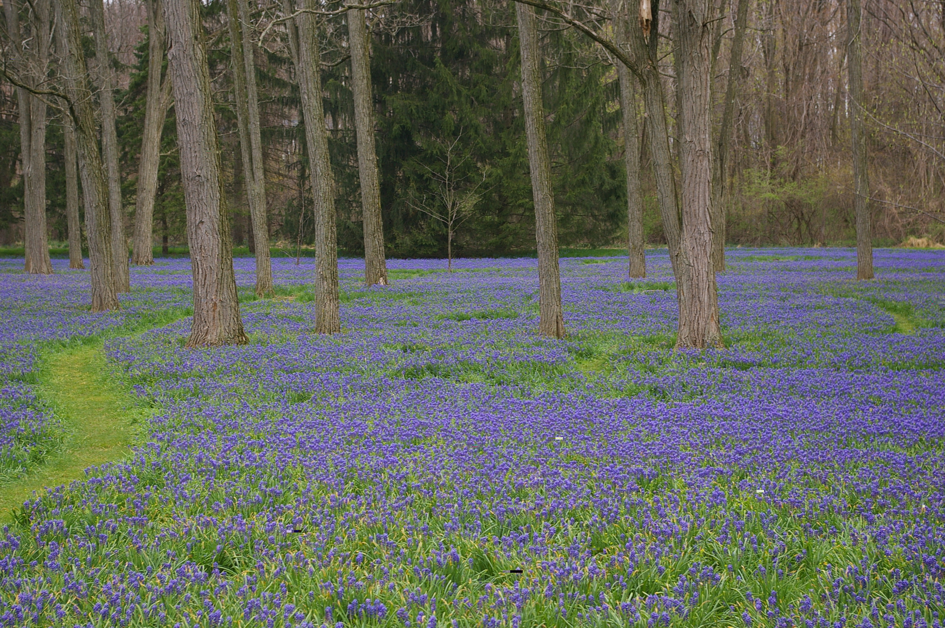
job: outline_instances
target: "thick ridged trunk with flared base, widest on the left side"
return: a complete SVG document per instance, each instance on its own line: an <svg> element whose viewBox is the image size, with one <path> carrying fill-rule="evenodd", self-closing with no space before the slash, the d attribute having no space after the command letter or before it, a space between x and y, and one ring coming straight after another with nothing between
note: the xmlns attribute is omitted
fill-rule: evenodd
<svg viewBox="0 0 945 628"><path fill-rule="evenodd" d="M168 69L174 84L180 178L194 275L194 323L187 347L245 344L233 275L232 241L216 138L210 70L198 0L166 0Z"/></svg>

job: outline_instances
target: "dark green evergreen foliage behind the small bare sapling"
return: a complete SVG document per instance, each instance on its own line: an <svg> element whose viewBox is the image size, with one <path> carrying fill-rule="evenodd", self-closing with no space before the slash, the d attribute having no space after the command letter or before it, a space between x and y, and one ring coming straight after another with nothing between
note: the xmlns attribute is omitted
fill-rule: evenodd
<svg viewBox="0 0 945 628"><path fill-rule="evenodd" d="M457 140L468 170L459 176L488 174L472 217L457 231L456 253L503 254L533 248L531 182L521 97L515 87L521 70L514 5L409 0L400 10L431 17L429 25L375 33L371 47L388 254L445 256L444 227L409 199L432 194L430 173L441 167L443 145ZM612 77L596 61L588 62L591 44L575 33L550 34L543 45L556 51L549 57L555 61L544 68L544 104L560 241L563 245L611 241L626 220L623 168L614 159L612 139L619 111L608 108L615 97ZM325 81L328 109L335 107L340 115L350 108L335 102L350 100L338 87L345 71L338 66ZM346 252L360 254L360 224L344 219L360 202L353 134L336 133L333 139L342 217L338 243ZM290 219L286 224L295 222Z"/></svg>

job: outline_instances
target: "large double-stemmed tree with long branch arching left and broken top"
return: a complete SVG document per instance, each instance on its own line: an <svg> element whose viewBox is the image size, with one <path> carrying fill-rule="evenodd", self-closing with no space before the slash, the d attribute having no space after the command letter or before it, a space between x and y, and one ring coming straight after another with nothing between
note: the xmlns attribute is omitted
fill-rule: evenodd
<svg viewBox="0 0 945 628"><path fill-rule="evenodd" d="M679 67L679 171L681 213L677 205L665 98L657 70L658 2L643 2L639 28L632 28L627 50L595 32L574 15L541 0L516 0L517 8L531 5L549 10L565 23L601 44L623 62L644 88L646 121L653 153L653 170L660 197L663 231L676 276L679 300L678 348L721 347L718 297L712 268L710 68L711 33L708 0L676 0ZM644 10L649 9L649 10ZM589 22L599 19L592 14ZM649 39L647 42L646 39ZM533 173L534 179L534 173Z"/></svg>

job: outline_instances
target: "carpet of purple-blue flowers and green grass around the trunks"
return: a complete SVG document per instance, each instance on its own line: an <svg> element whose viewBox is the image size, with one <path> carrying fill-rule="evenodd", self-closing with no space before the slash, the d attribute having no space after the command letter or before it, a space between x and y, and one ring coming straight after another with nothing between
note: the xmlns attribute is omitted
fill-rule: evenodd
<svg viewBox="0 0 945 628"><path fill-rule="evenodd" d="M342 333L310 261L273 260L244 347L184 349L186 260L88 276L0 261L0 480L60 438L37 383L104 337L153 408L133 456L27 501L0 539L0 625L791 626L945 620L945 255L730 252L727 349L674 351L664 251L342 260Z"/></svg>

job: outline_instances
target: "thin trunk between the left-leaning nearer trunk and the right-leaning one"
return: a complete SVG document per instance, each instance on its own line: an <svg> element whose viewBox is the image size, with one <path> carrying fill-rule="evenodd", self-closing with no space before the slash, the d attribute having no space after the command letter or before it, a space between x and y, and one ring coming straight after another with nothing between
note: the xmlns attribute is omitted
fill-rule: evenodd
<svg viewBox="0 0 945 628"><path fill-rule="evenodd" d="M118 134L115 131L115 103L112 95L112 67L109 42L105 32L105 8L102 0L89 3L95 36L95 75L102 122L102 157L109 185L109 215L112 220L112 263L115 265L115 290L130 292L128 239L125 237L125 208L121 200L121 170L118 167Z"/></svg>

